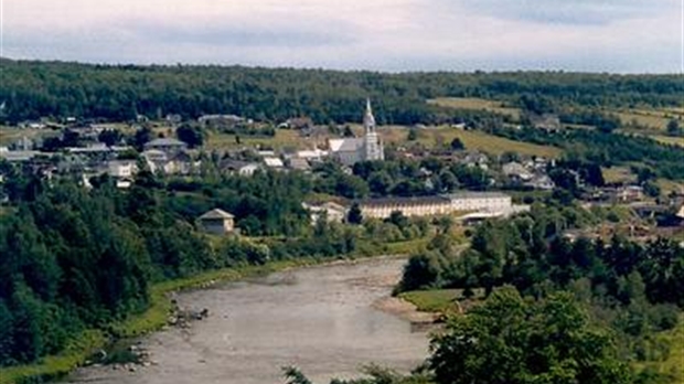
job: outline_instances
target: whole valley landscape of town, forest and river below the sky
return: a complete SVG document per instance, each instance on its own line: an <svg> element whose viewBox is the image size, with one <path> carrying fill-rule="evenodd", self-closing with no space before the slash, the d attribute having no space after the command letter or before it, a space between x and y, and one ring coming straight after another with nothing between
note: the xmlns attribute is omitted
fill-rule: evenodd
<svg viewBox="0 0 684 384"><path fill-rule="evenodd" d="M0 63L0 384L684 377L676 76Z"/></svg>

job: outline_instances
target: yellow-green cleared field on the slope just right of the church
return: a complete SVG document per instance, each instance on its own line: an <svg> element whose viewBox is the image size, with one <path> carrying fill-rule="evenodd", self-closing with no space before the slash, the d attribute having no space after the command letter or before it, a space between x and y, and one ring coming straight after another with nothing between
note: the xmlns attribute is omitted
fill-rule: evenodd
<svg viewBox="0 0 684 384"><path fill-rule="evenodd" d="M385 142L410 145L410 141L407 141L406 128L381 129L380 131ZM524 156L558 158L563 154L563 150L555 147L537 146L509 140L481 131L460 130L448 127L421 129L418 132L417 142L427 148L432 148L436 146L449 146L455 138L459 138L466 146L466 149L477 149L493 156L500 156L504 152L517 152Z"/></svg>

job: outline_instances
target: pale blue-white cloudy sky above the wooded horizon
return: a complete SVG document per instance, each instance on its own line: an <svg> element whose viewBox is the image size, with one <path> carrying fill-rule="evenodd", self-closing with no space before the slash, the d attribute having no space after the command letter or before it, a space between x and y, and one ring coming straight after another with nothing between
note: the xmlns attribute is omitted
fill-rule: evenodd
<svg viewBox="0 0 684 384"><path fill-rule="evenodd" d="M10 58L682 73L684 0L0 0Z"/></svg>

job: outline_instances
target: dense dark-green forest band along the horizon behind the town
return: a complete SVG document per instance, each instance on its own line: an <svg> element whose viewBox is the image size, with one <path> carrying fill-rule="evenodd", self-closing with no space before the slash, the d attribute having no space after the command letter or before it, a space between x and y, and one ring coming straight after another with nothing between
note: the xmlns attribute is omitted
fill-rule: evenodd
<svg viewBox="0 0 684 384"><path fill-rule="evenodd" d="M676 106L684 86L676 75L563 72L405 73L268 70L242 66L86 65L2 60L4 118L135 119L138 114L236 114L257 120L309 116L319 124L359 119L365 97L381 124L443 122L449 109L425 104L440 96L519 103L542 95L583 106ZM527 103L530 104L530 103ZM544 105L532 105L539 107Z"/></svg>

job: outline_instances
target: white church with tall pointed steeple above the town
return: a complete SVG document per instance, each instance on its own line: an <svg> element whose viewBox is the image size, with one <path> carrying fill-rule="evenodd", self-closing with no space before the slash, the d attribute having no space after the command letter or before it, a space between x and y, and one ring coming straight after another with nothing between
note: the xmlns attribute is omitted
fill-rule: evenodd
<svg viewBox="0 0 684 384"><path fill-rule="evenodd" d="M366 99L363 128L363 137L330 139L328 142L330 156L344 166L353 166L360 161L385 160L385 149L380 135L375 130L375 117L373 117L370 99Z"/></svg>

